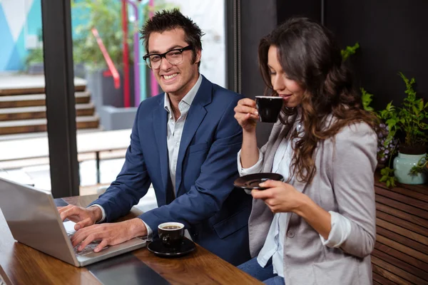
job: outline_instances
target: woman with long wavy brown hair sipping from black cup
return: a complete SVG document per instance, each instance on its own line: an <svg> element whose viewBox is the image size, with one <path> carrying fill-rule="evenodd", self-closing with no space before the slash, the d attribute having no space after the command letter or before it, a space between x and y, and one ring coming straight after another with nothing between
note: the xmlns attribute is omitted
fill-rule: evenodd
<svg viewBox="0 0 428 285"><path fill-rule="evenodd" d="M248 192L253 259L238 268L266 284L372 284L377 120L362 110L340 48L317 22L277 26L258 56L266 95L282 97L282 112L259 150L255 101L239 101L238 169L285 182Z"/></svg>

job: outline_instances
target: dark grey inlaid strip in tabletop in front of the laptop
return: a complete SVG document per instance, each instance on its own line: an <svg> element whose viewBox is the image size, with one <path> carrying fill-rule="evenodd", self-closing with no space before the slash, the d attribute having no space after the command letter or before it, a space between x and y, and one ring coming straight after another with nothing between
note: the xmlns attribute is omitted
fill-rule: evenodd
<svg viewBox="0 0 428 285"><path fill-rule="evenodd" d="M170 284L133 254L122 254L86 266L102 284Z"/></svg>

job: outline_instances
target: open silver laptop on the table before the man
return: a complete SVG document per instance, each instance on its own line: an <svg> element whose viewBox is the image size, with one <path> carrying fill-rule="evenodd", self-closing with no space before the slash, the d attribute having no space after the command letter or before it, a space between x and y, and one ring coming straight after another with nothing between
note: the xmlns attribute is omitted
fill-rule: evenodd
<svg viewBox="0 0 428 285"><path fill-rule="evenodd" d="M73 232L66 231L51 193L1 177L0 209L14 239L77 267L146 246L145 239L135 238L98 253L93 242L77 252L69 237Z"/></svg>

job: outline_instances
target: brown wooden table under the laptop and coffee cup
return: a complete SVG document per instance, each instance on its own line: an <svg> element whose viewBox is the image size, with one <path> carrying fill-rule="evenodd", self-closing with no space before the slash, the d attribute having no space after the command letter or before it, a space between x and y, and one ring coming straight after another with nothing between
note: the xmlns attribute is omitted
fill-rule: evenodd
<svg viewBox="0 0 428 285"><path fill-rule="evenodd" d="M96 195L63 198L68 204L86 207ZM133 209L123 219L141 212ZM148 249L138 249L133 255L161 274L170 284L261 284L197 245L195 252L185 257L164 259ZM100 284L86 268L77 268L47 254L15 242L3 215L0 215L0 275L6 284Z"/></svg>

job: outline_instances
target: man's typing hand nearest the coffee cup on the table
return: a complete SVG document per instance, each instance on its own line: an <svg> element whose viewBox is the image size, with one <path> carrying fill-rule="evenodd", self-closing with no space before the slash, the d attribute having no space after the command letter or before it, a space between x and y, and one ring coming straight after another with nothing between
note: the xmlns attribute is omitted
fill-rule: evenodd
<svg viewBox="0 0 428 285"><path fill-rule="evenodd" d="M135 218L113 224L93 224L89 227L78 229L71 237L71 243L73 247L80 244L77 248L80 252L94 240L101 240L100 244L93 250L93 252L99 252L108 245L121 244L134 237L146 235L146 225L141 219Z"/></svg>

